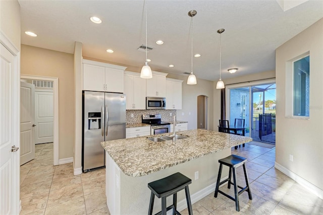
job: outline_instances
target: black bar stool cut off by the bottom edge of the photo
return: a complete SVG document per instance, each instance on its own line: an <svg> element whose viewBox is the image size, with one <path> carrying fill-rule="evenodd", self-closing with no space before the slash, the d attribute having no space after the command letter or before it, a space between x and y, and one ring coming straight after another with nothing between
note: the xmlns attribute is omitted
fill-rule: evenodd
<svg viewBox="0 0 323 215"><path fill-rule="evenodd" d="M174 208L173 214L180 214L176 210L177 192L183 189L185 189L188 214L193 215L190 192L188 189L188 185L191 183L192 180L181 173L175 173L164 179L148 183L148 188L151 190L148 215L152 215L153 201L155 195L158 198L161 198L161 211L159 211L156 214L166 215L167 211L172 208ZM167 207L166 198L170 195L173 195L173 204Z"/></svg>

